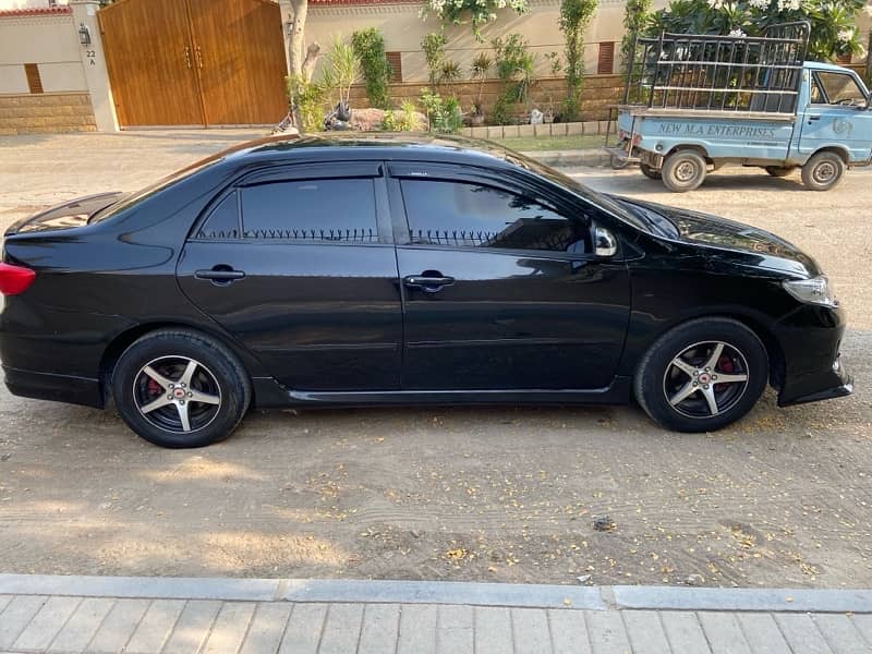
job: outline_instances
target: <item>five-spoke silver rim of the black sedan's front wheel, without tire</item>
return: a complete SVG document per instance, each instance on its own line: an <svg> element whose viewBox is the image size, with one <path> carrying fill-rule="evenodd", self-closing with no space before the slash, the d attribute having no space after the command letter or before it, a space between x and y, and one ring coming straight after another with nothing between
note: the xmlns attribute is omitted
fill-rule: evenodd
<svg viewBox="0 0 872 654"><path fill-rule="evenodd" d="M732 409L748 388L748 361L723 341L693 343L666 367L663 391L673 409L707 419Z"/></svg>

